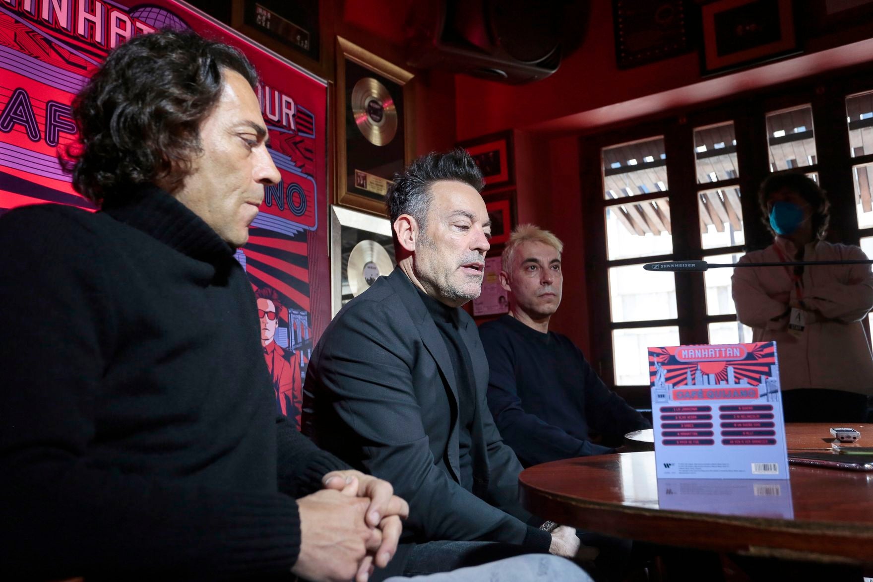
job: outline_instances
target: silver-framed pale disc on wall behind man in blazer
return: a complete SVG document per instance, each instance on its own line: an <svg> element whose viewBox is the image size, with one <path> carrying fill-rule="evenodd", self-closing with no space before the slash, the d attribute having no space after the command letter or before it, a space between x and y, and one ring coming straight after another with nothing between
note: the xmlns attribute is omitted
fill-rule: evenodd
<svg viewBox="0 0 873 582"><path fill-rule="evenodd" d="M336 315L377 277L391 274L396 261L388 218L336 204L330 217L331 308Z"/></svg>

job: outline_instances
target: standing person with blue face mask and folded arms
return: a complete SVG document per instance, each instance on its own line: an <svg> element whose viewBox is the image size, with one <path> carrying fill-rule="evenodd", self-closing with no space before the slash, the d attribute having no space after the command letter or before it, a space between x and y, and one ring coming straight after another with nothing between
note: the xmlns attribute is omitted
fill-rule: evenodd
<svg viewBox="0 0 873 582"><path fill-rule="evenodd" d="M828 198L802 174L766 179L759 192L773 244L740 263L864 260L857 246L828 243ZM873 308L870 265L734 269L733 301L753 341L776 342L788 422L863 422L873 394L873 356L863 319Z"/></svg>

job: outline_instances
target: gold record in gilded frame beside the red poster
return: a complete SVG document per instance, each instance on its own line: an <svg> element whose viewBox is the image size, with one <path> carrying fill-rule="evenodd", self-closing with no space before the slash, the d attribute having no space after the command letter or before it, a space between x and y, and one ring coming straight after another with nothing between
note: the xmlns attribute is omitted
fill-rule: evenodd
<svg viewBox="0 0 873 582"><path fill-rule="evenodd" d="M391 178L415 154L412 73L336 40L336 202L384 215Z"/></svg>

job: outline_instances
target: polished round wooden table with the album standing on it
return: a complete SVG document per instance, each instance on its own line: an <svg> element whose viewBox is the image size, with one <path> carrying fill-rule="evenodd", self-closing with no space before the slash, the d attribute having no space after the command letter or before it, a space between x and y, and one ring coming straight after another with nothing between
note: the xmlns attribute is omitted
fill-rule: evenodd
<svg viewBox="0 0 873 582"><path fill-rule="evenodd" d="M787 425L789 450L829 450L830 426ZM862 439L873 437L865 425L851 427ZM873 473L791 466L789 475L790 484L779 482L780 499L769 505L765 499L763 506L753 499L757 506L739 509L722 504L718 489L742 481L759 484L762 494L769 486L767 495L773 495L774 483L693 480L696 499L698 485L714 492L702 511L663 509L652 452L544 463L525 469L519 482L526 509L583 530L701 550L873 564Z"/></svg>

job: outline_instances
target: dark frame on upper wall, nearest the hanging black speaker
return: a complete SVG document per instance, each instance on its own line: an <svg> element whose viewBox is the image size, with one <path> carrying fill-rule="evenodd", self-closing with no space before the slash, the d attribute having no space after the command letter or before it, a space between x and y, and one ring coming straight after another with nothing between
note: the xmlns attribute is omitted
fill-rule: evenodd
<svg viewBox="0 0 873 582"><path fill-rule="evenodd" d="M686 0L612 0L615 61L620 69L691 52Z"/></svg>

